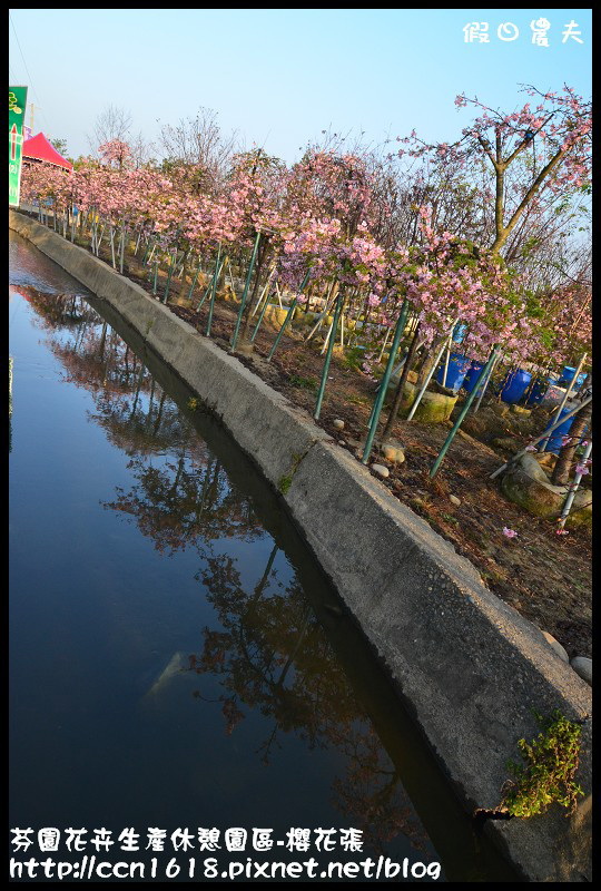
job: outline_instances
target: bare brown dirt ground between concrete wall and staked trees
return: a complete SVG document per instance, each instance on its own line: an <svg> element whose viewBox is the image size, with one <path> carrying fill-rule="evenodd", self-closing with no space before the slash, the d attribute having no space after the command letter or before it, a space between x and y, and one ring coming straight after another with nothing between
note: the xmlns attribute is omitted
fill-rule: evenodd
<svg viewBox="0 0 601 891"><path fill-rule="evenodd" d="M110 263L108 256L104 258ZM128 258L125 274L150 292L148 271L135 258ZM208 302L200 312L195 312L203 288L197 287L195 304L179 296L179 290L187 295L188 288L189 283L180 286L173 282L168 305L205 333ZM159 286L160 294L162 291L164 284ZM224 349L229 349L236 315L235 303L216 301L211 336ZM243 347L238 358L292 402L313 413L324 362L321 343L305 344L304 334L288 329L267 363L265 356L276 331L273 323L264 322L253 352ZM353 454L365 439L375 388L373 380L335 351L318 423ZM384 419L386 414L383 412ZM506 448L491 446L491 439L512 438L515 452L523 448L529 434L542 432L546 417L542 410L535 410L528 419L513 413L500 419L492 408L483 405L477 415L469 414L465 419L434 480L428 473L452 421L425 424L398 420L394 438L404 447L406 460L392 464L376 450L372 460L388 467L390 477L382 480L383 484L467 557L495 595L550 631L570 657L592 657L590 531L579 528L558 536L556 523L513 505L502 495L499 481L489 479L512 453ZM333 425L335 419L344 421L343 431ZM460 499L459 506L451 501L451 495ZM515 530L516 537L505 537L503 527Z"/></svg>

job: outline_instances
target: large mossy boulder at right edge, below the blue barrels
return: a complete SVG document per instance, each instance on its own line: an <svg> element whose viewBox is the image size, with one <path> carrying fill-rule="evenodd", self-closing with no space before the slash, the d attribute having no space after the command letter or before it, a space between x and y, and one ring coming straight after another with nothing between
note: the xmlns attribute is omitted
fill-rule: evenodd
<svg viewBox="0 0 601 891"><path fill-rule="evenodd" d="M528 452L505 470L501 478L501 490L510 501L520 505L529 513L550 520L561 515L566 495L566 487L552 486L540 463ZM592 525L592 495L589 489L579 489L575 493L565 525Z"/></svg>

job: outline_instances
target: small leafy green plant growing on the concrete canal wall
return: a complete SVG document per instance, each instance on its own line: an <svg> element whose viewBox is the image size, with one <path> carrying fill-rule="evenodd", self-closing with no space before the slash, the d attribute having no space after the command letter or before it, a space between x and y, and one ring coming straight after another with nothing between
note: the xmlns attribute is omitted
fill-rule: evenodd
<svg viewBox="0 0 601 891"><path fill-rule="evenodd" d="M531 743L520 740L518 747L525 764L508 762L513 780L503 786L499 810L512 816L544 813L553 802L575 811L582 789L574 783L579 765L582 727L568 721L556 708L549 717L535 714L541 733Z"/></svg>

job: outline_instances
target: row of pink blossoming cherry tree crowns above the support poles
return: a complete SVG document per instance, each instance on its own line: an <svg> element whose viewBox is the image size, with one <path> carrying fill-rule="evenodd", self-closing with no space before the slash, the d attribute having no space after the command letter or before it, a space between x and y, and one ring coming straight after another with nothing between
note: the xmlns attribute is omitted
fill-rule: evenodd
<svg viewBox="0 0 601 891"><path fill-rule="evenodd" d="M267 276L299 296L309 272L311 296L326 310L337 300L343 320L380 337L407 300L424 350L460 321L474 359L502 344L510 361L561 365L589 347L590 283L534 281L529 261L540 265L546 249L561 270L558 244L589 188L590 106L568 87L530 92L539 104L509 115L457 97L482 112L457 143L427 145L413 133L377 161L313 147L287 167L253 150L218 177L178 159L136 168L116 139L71 173L29 167L22 197L40 213L50 203L55 226L86 234L96 253L110 242L121 271L130 245L183 281L210 268L218 247L244 263L255 246L246 320Z"/></svg>

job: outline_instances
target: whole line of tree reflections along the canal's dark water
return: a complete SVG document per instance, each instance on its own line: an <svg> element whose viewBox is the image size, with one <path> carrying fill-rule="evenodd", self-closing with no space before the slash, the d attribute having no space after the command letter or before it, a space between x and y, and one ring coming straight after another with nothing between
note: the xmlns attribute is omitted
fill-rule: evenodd
<svg viewBox="0 0 601 891"><path fill-rule="evenodd" d="M233 487L216 459L144 363L81 297L19 288L38 313L66 379L93 398L90 420L130 456L134 479L117 488L107 510L131 518L156 549L173 555L193 548L218 625L204 628L189 670L210 676L226 734L254 709L269 722L257 758L267 766L274 750L294 734L309 748L338 753L344 773L332 784L333 803L362 829L377 853L402 834L423 850L425 838L382 743L357 702L294 575L279 580L277 546L254 587L243 585L231 554L216 554L227 538L265 539L249 498ZM156 463L152 459L158 457ZM287 577L290 574L287 574Z"/></svg>

